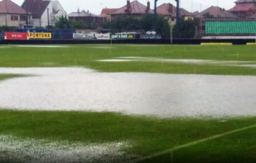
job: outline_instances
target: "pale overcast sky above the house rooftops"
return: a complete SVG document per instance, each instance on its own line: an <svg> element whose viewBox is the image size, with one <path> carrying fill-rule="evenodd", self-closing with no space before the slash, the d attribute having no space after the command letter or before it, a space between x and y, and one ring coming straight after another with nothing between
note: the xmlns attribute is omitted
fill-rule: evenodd
<svg viewBox="0 0 256 163"><path fill-rule="evenodd" d="M24 0L12 0L18 5L21 5ZM133 0L130 0L131 2ZM138 0L140 3L147 5L148 0ZM151 8L154 8L154 0L149 0ZM210 6L219 6L221 8L230 9L235 4L236 0L181 0L181 7L188 11L204 10ZM121 8L126 4L126 0L59 0L67 14L80 10L89 10L93 14L99 15L102 8ZM159 0L158 6L162 3L172 3L176 6L175 0ZM200 5L201 4L201 5ZM201 6L201 7L200 7Z"/></svg>

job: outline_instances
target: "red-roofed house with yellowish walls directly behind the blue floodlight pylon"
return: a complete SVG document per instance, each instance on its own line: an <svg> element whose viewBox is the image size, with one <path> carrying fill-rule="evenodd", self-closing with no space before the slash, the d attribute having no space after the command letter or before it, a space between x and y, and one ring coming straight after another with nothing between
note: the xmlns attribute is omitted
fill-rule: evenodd
<svg viewBox="0 0 256 163"><path fill-rule="evenodd" d="M176 24L176 10L177 8L171 3L164 3L157 7L157 14L163 15L169 22L170 25ZM180 17L183 17L185 20L193 19L195 16L189 11L180 8Z"/></svg>

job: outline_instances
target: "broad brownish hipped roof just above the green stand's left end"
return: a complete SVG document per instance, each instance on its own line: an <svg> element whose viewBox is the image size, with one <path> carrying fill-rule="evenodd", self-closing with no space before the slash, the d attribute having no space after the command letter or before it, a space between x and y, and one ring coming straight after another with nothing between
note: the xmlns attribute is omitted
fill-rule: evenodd
<svg viewBox="0 0 256 163"><path fill-rule="evenodd" d="M203 10L198 15L196 15L196 17L203 17L203 14L206 14L206 13L209 13L214 17L219 17L219 18L237 18L237 16L235 16L234 14L217 6L211 6Z"/></svg>

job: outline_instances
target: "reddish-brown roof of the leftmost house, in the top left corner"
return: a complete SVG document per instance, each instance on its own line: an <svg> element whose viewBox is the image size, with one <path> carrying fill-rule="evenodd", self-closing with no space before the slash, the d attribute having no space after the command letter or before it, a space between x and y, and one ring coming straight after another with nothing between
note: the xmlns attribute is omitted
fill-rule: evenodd
<svg viewBox="0 0 256 163"><path fill-rule="evenodd" d="M10 0L3 0L0 2L0 13L27 14L27 11Z"/></svg>

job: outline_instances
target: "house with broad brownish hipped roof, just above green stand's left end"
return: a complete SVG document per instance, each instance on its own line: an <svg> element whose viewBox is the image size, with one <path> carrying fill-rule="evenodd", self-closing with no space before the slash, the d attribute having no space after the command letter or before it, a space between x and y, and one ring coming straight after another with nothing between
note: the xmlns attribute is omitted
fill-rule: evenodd
<svg viewBox="0 0 256 163"><path fill-rule="evenodd" d="M211 6L199 14L196 15L198 18L219 18L219 19L237 19L237 16L231 12L217 6Z"/></svg>

